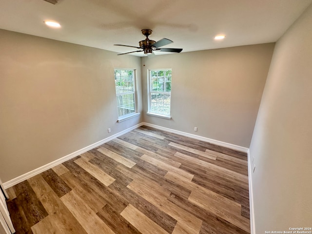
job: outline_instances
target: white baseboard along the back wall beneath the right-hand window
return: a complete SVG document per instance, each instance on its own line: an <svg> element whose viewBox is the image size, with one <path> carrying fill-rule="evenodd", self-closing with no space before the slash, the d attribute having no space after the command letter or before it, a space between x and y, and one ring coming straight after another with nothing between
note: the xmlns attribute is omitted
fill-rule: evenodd
<svg viewBox="0 0 312 234"><path fill-rule="evenodd" d="M239 145L234 145L234 144L226 143L226 142L223 142L223 141L210 139L210 138L207 138L207 137L200 137L200 136L197 136L197 135L194 135L194 134L185 133L185 132L177 131L177 130L170 129L170 128L161 127L161 126L150 124L150 123L143 122L142 125L145 125L145 126L148 126L148 127L152 127L152 128L156 128L156 129L163 130L163 131L167 131L167 132L170 132L170 133L176 133L178 135L182 135L182 136L185 136L185 137L190 137L190 138L194 138L194 139L197 139L197 140L206 141L206 142L209 142L209 143L212 143L212 144L215 144L215 145L219 145L219 146L223 146L223 147L226 147L226 148L230 148L230 149L233 149L233 150L238 150L238 151L242 151L242 152L245 152L245 153L248 152L248 148L242 147L242 146L239 146Z"/></svg>

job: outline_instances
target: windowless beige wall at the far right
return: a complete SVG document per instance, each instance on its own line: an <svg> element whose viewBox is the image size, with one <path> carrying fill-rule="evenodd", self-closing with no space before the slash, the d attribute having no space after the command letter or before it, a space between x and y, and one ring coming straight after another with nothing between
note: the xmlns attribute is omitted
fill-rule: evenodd
<svg viewBox="0 0 312 234"><path fill-rule="evenodd" d="M276 43L250 156L257 234L312 226L312 5Z"/></svg>

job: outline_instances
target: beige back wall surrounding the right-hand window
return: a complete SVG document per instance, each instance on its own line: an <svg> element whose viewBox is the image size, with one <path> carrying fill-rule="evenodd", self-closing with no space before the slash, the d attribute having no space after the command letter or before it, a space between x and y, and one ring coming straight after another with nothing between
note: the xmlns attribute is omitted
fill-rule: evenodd
<svg viewBox="0 0 312 234"><path fill-rule="evenodd" d="M248 148L273 47L269 43L145 58L144 121ZM145 114L147 70L157 68L172 68L171 120Z"/></svg>

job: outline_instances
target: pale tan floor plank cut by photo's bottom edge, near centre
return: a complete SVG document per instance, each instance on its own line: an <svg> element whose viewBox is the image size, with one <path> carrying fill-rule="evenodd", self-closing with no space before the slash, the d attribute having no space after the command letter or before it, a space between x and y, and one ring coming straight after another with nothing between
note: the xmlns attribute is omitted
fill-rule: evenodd
<svg viewBox="0 0 312 234"><path fill-rule="evenodd" d="M133 205L129 204L120 214L129 223L137 228L142 234L168 234L165 230L159 227L153 220L145 216L137 210Z"/></svg>

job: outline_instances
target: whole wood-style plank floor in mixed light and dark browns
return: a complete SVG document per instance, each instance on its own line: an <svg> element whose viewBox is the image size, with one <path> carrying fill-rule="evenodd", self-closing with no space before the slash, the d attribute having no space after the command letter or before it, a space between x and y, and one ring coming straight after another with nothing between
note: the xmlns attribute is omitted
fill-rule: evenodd
<svg viewBox="0 0 312 234"><path fill-rule="evenodd" d="M145 126L7 192L17 234L250 233L246 154Z"/></svg>

